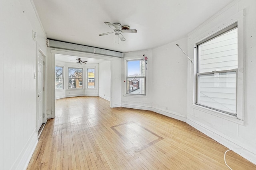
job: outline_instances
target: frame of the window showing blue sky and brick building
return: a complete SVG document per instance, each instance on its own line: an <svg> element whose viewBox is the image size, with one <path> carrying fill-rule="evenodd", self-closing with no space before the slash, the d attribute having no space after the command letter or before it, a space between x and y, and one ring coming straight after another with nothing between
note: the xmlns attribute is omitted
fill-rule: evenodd
<svg viewBox="0 0 256 170"><path fill-rule="evenodd" d="M126 95L134 95L134 96L146 96L146 66L145 66L145 75L144 76L128 76L128 62L129 61L143 61L144 58L140 58L140 59L130 59L130 60L126 60ZM144 62L144 61L143 61ZM140 79L140 78L144 78L144 94L132 94L132 93L128 93L128 78L136 78L136 79ZM137 84L136 84L137 85ZM130 88L130 86L129 86Z"/></svg>

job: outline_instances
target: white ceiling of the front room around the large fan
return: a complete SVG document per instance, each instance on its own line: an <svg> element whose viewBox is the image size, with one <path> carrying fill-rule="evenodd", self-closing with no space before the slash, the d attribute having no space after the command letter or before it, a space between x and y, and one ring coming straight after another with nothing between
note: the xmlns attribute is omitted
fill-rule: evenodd
<svg viewBox="0 0 256 170"><path fill-rule="evenodd" d="M233 0L33 0L47 38L120 52L158 47L178 39ZM104 23L137 29L100 37L112 29Z"/></svg>

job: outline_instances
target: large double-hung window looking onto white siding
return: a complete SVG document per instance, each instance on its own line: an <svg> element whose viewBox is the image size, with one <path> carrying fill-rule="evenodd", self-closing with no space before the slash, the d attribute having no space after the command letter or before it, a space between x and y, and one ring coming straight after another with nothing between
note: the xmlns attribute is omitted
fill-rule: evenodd
<svg viewBox="0 0 256 170"><path fill-rule="evenodd" d="M199 43L196 104L236 115L237 24Z"/></svg>

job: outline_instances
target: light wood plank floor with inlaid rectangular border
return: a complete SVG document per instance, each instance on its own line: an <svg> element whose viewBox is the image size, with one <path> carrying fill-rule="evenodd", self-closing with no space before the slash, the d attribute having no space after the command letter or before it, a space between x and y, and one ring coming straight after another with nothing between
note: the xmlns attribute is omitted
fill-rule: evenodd
<svg viewBox="0 0 256 170"><path fill-rule="evenodd" d="M190 125L152 111L110 108L99 97L56 100L28 170L227 170L226 147ZM230 151L233 170L256 165Z"/></svg>

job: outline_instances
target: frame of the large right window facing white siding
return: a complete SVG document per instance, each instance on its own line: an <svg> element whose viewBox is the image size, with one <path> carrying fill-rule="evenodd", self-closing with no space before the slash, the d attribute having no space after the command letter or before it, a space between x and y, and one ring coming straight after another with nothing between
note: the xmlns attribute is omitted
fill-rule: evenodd
<svg viewBox="0 0 256 170"><path fill-rule="evenodd" d="M238 23L237 22L233 23L232 25L230 25L228 27L225 27L224 29L218 31L217 33L214 33L210 37L196 43L196 59L197 59L197 62L196 62L196 95L195 95L196 102L195 102L195 104L198 105L198 106L206 107L208 109L216 110L216 111L226 113L228 115L233 115L233 116L238 115L238 68L234 68L234 69L230 69L230 70L220 70L220 71L214 70L212 72L201 72L200 73L200 47L199 47L199 45L204 44L208 41L211 41L212 39L215 39L215 38L229 32L229 31L232 31L233 29L236 29L236 28L238 29ZM238 36L238 41L239 41L239 36ZM239 45L238 45L238 48L239 48ZM239 53L238 53L238 58L239 58ZM204 104L198 103L198 99L199 99L199 96L198 96L199 95L199 76L200 75L210 75L210 74L215 74L215 73L223 73L223 72L236 72L236 113L230 113L228 111L216 109L216 108L205 106Z"/></svg>

